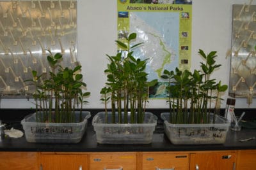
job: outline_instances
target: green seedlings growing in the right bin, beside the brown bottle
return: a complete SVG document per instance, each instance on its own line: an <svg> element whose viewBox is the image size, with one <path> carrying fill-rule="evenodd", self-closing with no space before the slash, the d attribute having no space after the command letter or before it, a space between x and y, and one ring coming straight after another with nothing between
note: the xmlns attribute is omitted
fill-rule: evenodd
<svg viewBox="0 0 256 170"><path fill-rule="evenodd" d="M211 79L211 73L220 67L216 64L216 52L205 54L203 50L198 52L205 63L200 62L200 70L175 71L164 70L161 78L168 80L168 103L170 108L170 123L172 124L208 124L209 112L214 108L214 119L220 102L220 92L227 90L227 85L221 85L221 81ZM212 102L215 101L214 107ZM190 102L190 107L189 106Z"/></svg>

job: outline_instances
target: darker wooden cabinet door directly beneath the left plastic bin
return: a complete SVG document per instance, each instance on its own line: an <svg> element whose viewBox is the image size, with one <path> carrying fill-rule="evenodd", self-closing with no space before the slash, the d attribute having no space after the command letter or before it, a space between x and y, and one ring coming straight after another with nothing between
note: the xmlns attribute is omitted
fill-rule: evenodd
<svg viewBox="0 0 256 170"><path fill-rule="evenodd" d="M87 170L88 155L86 153L41 153L42 170Z"/></svg>

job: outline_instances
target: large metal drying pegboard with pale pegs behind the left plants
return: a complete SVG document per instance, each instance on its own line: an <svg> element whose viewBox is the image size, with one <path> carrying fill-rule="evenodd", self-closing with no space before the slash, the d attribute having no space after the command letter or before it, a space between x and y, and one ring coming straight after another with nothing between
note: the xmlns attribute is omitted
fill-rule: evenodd
<svg viewBox="0 0 256 170"><path fill-rule="evenodd" d="M0 97L25 97L24 80L47 73L47 55L61 52L62 66L77 62L76 1L0 1Z"/></svg>

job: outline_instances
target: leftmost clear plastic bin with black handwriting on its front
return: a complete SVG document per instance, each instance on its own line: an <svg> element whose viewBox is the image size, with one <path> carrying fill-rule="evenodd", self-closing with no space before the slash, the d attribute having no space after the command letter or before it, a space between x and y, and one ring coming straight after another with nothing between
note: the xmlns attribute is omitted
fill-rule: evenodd
<svg viewBox="0 0 256 170"><path fill-rule="evenodd" d="M76 120L79 120L79 113ZM36 122L36 113L25 117L22 127L25 131L26 140L32 143L79 143L87 127L87 119L90 112L83 111L83 121L77 123L41 123Z"/></svg>

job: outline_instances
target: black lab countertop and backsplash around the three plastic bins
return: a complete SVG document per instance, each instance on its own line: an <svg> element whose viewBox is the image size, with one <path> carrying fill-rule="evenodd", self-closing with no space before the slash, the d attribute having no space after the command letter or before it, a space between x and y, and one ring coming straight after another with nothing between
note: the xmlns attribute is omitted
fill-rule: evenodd
<svg viewBox="0 0 256 170"><path fill-rule="evenodd" d="M98 110L92 110L92 117ZM156 110L153 110L156 112ZM158 111L158 110L157 110ZM159 110L158 112L163 111ZM20 120L30 110L0 110L1 119L6 118L10 127L22 130ZM254 111L253 111L254 113ZM20 115L22 114L22 115ZM158 114L158 113L157 113ZM10 116L11 115L11 116ZM158 114L159 115L159 114ZM253 114L255 115L255 114ZM13 118L13 117L16 118ZM91 120L92 118L90 118ZM164 152L164 151L202 151L202 150L256 150L256 139L241 143L239 139L256 137L256 129L228 131L225 143L220 145L173 145L163 132L163 122L157 121L152 143L147 145L100 145L97 143L93 126L89 120L86 132L79 143L28 143L26 138L0 139L0 151L16 152Z"/></svg>

